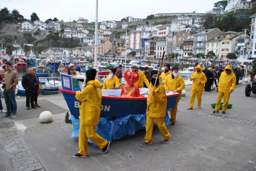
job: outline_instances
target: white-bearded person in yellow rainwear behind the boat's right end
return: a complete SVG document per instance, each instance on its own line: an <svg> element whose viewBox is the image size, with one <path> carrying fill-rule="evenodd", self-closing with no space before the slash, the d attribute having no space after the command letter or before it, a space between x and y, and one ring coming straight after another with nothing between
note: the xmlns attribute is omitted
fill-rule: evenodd
<svg viewBox="0 0 256 171"><path fill-rule="evenodd" d="M180 93L180 95L177 97L177 100L175 102L174 108L171 109L171 118L170 122L171 125L175 124L176 121L176 114L178 110L178 103L181 99L181 91L185 89L185 82L183 78L178 74L179 68L178 66L172 67L172 74L164 81L164 88L166 93L169 93L169 91L172 91L173 93Z"/></svg>

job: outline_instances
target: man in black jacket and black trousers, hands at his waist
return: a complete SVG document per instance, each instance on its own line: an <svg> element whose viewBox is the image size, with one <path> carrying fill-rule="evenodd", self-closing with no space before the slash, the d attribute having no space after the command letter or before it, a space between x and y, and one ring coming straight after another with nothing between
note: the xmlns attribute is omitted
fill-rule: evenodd
<svg viewBox="0 0 256 171"><path fill-rule="evenodd" d="M33 69L28 68L28 73L22 76L22 86L26 90L26 106L29 109L29 100L31 108L36 109L34 104L34 94L35 94L35 85L36 85L36 76L33 74Z"/></svg>

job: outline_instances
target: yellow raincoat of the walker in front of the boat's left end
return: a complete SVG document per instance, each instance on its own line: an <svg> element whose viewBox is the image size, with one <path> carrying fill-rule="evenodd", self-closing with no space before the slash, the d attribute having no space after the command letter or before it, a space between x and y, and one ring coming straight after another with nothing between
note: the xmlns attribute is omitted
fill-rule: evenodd
<svg viewBox="0 0 256 171"><path fill-rule="evenodd" d="M83 91L76 92L76 99L79 100L79 119L82 125L98 125L101 108L101 84L98 81L88 81Z"/></svg>

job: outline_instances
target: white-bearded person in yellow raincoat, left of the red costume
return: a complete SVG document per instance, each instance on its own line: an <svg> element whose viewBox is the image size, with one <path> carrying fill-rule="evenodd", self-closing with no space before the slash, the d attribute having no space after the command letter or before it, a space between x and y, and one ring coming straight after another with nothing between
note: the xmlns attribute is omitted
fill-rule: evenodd
<svg viewBox="0 0 256 171"><path fill-rule="evenodd" d="M102 90L120 89L120 82L119 79L116 77L115 72L115 68L110 69L109 76L103 82Z"/></svg>

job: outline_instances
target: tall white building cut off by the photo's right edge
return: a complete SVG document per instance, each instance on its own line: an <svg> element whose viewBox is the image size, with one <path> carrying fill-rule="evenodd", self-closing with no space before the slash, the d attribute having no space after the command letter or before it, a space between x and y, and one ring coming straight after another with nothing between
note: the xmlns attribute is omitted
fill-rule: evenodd
<svg viewBox="0 0 256 171"><path fill-rule="evenodd" d="M251 31L250 31L250 40L249 40L249 49L248 49L248 54L251 55L249 59L255 59L256 58L256 13L250 16L252 19L250 26L251 26Z"/></svg>

